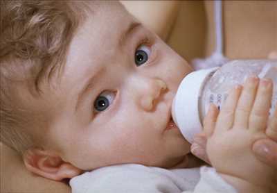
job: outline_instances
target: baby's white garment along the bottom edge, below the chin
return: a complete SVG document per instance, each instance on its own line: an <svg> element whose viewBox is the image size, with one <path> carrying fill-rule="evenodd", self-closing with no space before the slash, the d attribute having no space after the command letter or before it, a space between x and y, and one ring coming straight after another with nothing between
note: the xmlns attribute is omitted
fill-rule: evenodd
<svg viewBox="0 0 277 193"><path fill-rule="evenodd" d="M72 193L233 193L212 167L193 169L163 169L126 164L102 167L69 182Z"/></svg>

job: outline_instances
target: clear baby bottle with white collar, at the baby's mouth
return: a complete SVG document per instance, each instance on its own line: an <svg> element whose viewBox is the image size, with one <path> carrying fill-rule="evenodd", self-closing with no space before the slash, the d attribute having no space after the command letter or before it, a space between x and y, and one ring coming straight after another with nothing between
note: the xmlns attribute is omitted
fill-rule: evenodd
<svg viewBox="0 0 277 193"><path fill-rule="evenodd" d="M222 67L192 72L181 81L172 103L172 117L188 142L202 131L210 103L220 110L229 90L253 74L271 78L274 83L272 115L277 102L277 60L232 60Z"/></svg>

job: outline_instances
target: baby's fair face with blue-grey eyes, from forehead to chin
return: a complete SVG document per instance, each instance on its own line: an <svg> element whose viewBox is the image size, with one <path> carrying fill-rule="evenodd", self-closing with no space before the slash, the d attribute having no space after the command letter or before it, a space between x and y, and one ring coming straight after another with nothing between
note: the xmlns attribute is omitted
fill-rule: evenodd
<svg viewBox="0 0 277 193"><path fill-rule="evenodd" d="M171 167L190 145L168 128L188 63L120 6L91 15L69 47L46 147L80 169ZM50 96L50 95L49 95Z"/></svg>

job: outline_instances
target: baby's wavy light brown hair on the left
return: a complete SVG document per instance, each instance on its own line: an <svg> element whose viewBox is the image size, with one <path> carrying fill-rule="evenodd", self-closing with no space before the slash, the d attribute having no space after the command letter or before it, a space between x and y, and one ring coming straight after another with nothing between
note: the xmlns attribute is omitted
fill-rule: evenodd
<svg viewBox="0 0 277 193"><path fill-rule="evenodd" d="M35 125L35 116L43 116L20 105L15 88L28 83L33 97L39 97L41 83L62 72L69 43L92 12L89 3L0 1L1 142L18 153L36 145L26 127Z"/></svg>

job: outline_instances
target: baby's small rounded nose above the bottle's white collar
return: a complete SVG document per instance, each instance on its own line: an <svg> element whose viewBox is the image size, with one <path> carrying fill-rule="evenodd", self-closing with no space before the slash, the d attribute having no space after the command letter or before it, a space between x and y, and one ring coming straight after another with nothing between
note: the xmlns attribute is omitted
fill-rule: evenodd
<svg viewBox="0 0 277 193"><path fill-rule="evenodd" d="M145 90L141 97L140 104L144 110L150 111L163 92L167 90L166 83L161 79L151 80L148 84L148 89Z"/></svg>

